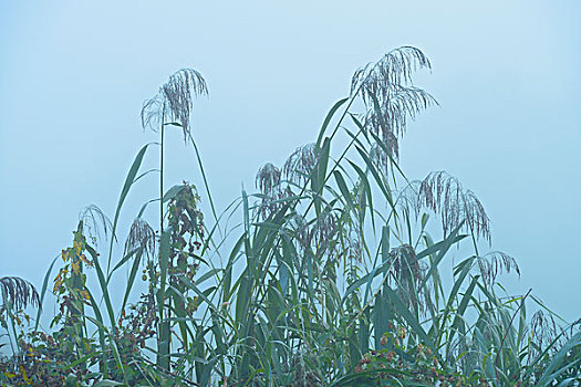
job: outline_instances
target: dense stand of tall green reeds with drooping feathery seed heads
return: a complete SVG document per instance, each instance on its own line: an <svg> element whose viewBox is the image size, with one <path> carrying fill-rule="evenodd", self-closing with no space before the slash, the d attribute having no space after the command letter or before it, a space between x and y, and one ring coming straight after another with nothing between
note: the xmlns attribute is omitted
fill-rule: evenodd
<svg viewBox="0 0 581 387"><path fill-rule="evenodd" d="M498 283L519 268L487 251L489 219L475 194L446 172L411 181L398 167L407 121L436 104L412 83L429 67L404 46L359 70L315 142L261 167L258 192L242 190L221 213L189 123L206 83L193 70L172 75L144 104L143 126L159 143L137 153L113 221L96 207L83 212L40 295L0 279L0 333L12 349L0 384L579 386L579 324L558 324L531 292L509 295ZM209 220L195 186L164 185L175 129L194 148ZM332 149L340 138L346 146ZM144 171L155 149L159 168ZM120 244L126 199L152 174L159 191ZM103 255L97 238L108 241ZM35 320L24 310L49 290L60 307L46 332L40 308Z"/></svg>

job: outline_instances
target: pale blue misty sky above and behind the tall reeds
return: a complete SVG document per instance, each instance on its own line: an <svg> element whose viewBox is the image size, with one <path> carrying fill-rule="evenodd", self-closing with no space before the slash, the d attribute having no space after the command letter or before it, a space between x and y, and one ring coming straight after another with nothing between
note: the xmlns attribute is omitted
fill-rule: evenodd
<svg viewBox="0 0 581 387"><path fill-rule="evenodd" d="M407 129L411 178L445 169L492 220L494 247L568 320L581 316L581 2L0 2L0 275L41 285L79 211L110 216L135 153L139 109L167 76L206 77L195 137L219 208L312 142L354 70L414 45L440 107ZM172 139L168 185L198 182ZM153 163L153 160L152 160ZM145 182L127 221L155 189Z"/></svg>

